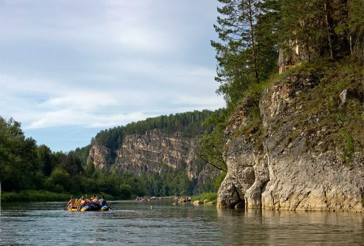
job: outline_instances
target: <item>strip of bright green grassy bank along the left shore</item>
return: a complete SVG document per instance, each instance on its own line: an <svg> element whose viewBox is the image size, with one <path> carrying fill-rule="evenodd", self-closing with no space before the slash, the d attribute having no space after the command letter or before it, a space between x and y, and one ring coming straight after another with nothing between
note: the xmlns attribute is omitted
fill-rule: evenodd
<svg viewBox="0 0 364 246"><path fill-rule="evenodd" d="M85 194L67 194L67 193L56 193L51 191L35 191L26 190L19 192L1 192L1 202L51 202L51 201L68 201L71 196L80 198ZM99 194L97 194L99 195ZM104 194L105 199L115 200L118 199L114 196ZM91 197L92 194L88 195Z"/></svg>

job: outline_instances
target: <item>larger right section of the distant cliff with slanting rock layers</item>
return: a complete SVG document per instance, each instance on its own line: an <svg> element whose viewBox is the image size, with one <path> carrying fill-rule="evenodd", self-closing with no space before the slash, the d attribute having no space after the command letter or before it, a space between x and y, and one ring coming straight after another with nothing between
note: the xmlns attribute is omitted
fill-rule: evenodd
<svg viewBox="0 0 364 246"><path fill-rule="evenodd" d="M198 177L193 162L197 140L175 133L166 136L159 129L145 135L129 135L117 152L116 168L140 175L142 172L165 172L168 167L186 171L190 179Z"/></svg>

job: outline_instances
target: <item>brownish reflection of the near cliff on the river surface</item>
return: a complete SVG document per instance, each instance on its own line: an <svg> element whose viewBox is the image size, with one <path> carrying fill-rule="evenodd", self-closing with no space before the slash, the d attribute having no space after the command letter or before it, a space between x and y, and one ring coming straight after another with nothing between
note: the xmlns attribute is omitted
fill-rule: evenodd
<svg viewBox="0 0 364 246"><path fill-rule="evenodd" d="M364 215L350 212L217 209L224 245L361 245ZM350 235L350 236L349 236Z"/></svg>

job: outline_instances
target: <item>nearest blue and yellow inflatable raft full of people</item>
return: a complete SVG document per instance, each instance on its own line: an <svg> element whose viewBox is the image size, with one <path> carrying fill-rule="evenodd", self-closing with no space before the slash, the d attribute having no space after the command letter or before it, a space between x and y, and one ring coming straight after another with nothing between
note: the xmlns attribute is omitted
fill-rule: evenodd
<svg viewBox="0 0 364 246"><path fill-rule="evenodd" d="M71 196L66 208L68 211L108 211L112 209L107 204L105 197L102 195L101 199L98 196L92 195L90 200L82 196L80 199L75 199Z"/></svg>

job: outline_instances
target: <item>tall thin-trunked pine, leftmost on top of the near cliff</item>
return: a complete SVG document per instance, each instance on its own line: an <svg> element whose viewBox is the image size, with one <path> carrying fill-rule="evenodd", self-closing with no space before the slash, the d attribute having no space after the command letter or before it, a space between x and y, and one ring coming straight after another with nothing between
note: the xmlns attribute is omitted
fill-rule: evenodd
<svg viewBox="0 0 364 246"><path fill-rule="evenodd" d="M235 105L250 83L259 83L272 67L269 57L277 53L270 42L272 29L260 19L259 0L218 0L221 16L214 25L221 43L211 40L216 50L217 77L221 85L217 94L223 95L227 105ZM268 59L267 59L268 58ZM276 62L273 61L273 64Z"/></svg>

